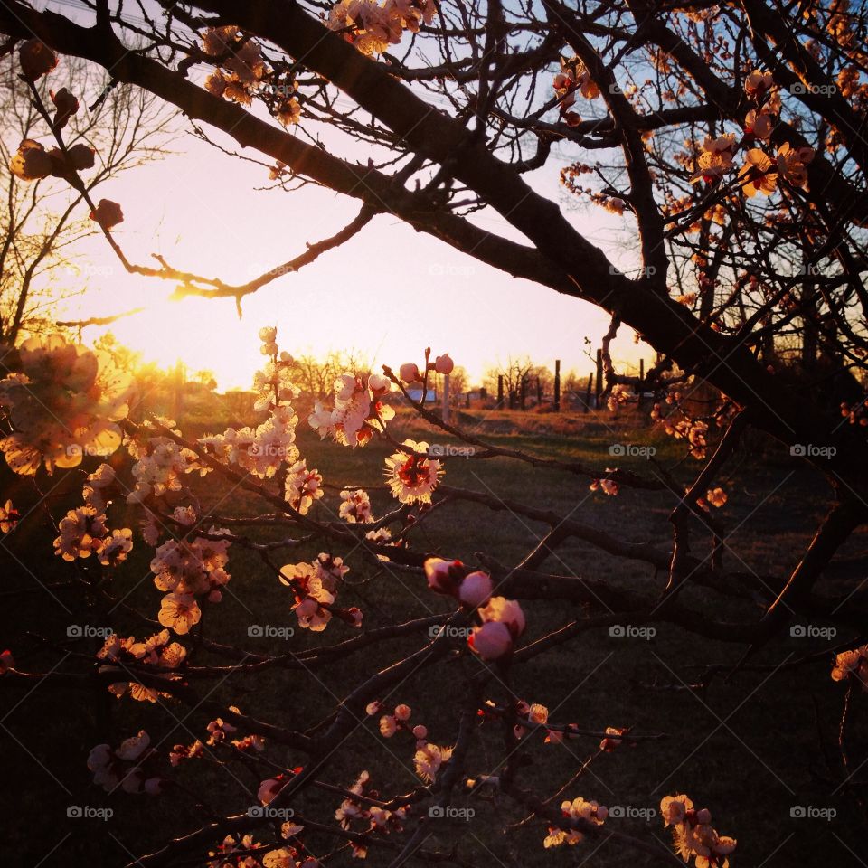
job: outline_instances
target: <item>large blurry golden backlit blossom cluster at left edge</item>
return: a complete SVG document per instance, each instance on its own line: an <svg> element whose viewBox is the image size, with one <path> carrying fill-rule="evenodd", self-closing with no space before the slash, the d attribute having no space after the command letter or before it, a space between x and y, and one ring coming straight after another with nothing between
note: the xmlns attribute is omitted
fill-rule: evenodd
<svg viewBox="0 0 868 868"><path fill-rule="evenodd" d="M117 422L127 417L130 381L108 354L70 344L61 335L32 337L5 365L0 408L12 433L0 439L9 467L32 476L44 463L78 467L83 455L110 455L121 443Z"/></svg>

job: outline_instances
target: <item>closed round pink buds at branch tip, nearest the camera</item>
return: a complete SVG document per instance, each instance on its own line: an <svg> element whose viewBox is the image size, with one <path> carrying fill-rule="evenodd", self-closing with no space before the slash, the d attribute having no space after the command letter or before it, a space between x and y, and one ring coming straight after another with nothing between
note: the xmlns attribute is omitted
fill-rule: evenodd
<svg viewBox="0 0 868 868"><path fill-rule="evenodd" d="M512 653L514 641L524 633L524 612L514 599L492 597L491 577L468 570L461 561L429 558L425 561L428 587L458 599L466 609L476 609L480 622L467 637L467 645L483 660L497 660Z"/></svg>

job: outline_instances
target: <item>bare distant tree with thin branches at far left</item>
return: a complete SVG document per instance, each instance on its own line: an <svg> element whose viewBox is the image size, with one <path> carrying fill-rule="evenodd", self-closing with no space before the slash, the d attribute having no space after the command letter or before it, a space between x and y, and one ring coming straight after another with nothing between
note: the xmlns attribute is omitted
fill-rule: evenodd
<svg viewBox="0 0 868 868"><path fill-rule="evenodd" d="M174 110L146 90L109 87L109 74L80 58L70 58L58 73L60 80L53 80L51 89L63 85L79 102L64 129L66 142L95 151L96 164L82 172L89 192L165 153ZM38 87L51 105L48 81L42 79ZM0 59L0 117L0 162L5 166L42 123L13 55ZM14 344L22 331L49 327L61 297L84 291L99 269L117 269L118 264L108 257L106 265L80 263L78 243L99 231L99 225L90 220L80 191L63 178L28 183L4 171L0 200L0 343Z"/></svg>

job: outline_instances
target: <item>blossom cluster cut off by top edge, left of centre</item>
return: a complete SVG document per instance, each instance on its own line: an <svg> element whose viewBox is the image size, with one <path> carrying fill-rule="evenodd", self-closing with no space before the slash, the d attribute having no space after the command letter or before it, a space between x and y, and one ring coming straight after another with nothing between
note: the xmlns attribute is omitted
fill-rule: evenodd
<svg viewBox="0 0 868 868"><path fill-rule="evenodd" d="M326 26L341 33L363 54L381 54L401 42L404 31L419 33L437 11L433 0L339 0Z"/></svg>

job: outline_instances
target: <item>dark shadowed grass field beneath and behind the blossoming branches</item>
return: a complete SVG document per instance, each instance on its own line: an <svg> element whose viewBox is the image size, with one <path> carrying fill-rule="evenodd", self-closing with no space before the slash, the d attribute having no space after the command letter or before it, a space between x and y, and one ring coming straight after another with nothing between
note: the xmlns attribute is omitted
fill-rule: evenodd
<svg viewBox="0 0 868 868"><path fill-rule="evenodd" d="M572 457L598 467L611 464L613 443L654 446L656 458L671 467L674 476L688 483L700 465L680 461L677 445L659 439L650 429L640 428L631 416L533 416L500 413L481 418L473 414L461 420L491 442L523 448L549 457ZM215 425L213 429L220 429ZM198 433L198 432L197 432ZM425 434L416 423L399 418L393 426L396 437ZM446 442L431 434L429 441ZM376 514L389 505L382 490L382 458L387 448L376 443L351 451L302 435L302 452L308 466L316 466L326 483L371 486ZM619 467L651 473L642 458L619 459ZM71 624L99 624L109 618L94 600L84 599L78 587L44 590L44 585L73 579L74 567L55 559L46 544L52 533L46 507L55 517L78 502L80 476L67 481L42 478L42 494L31 484L4 476L6 496L13 497L24 521L3 547L2 644L13 648L24 671L45 672L52 666L61 672L85 672L87 663L65 652L92 652L98 640L67 637ZM444 483L486 492L496 498L514 499L551 509L559 514L594 524L627 541L668 541L668 515L675 505L668 493L637 492L622 488L617 497L590 492L588 481L548 469L529 467L505 458L486 460L451 458ZM797 564L810 541L817 521L831 502L831 493L821 476L797 462L778 445L753 440L745 444L727 467L722 480L730 500L719 514L728 536L724 563L734 571L772 575L782 581ZM57 486L51 491L52 485ZM256 514L268 511L252 501L242 489L230 489L213 476L197 483L203 502L216 505L223 514ZM376 487L376 490L374 490ZM47 496L44 496L47 495ZM337 495L330 490L316 509L327 517L336 512ZM33 507L32 512L28 510ZM113 519L113 526L119 521ZM509 511L492 512L484 507L457 503L435 510L413 538L413 547L474 562L474 552L488 552L498 561L514 564L538 542L544 528ZM266 530L261 538L274 538ZM693 530L697 545L699 525ZM319 551L294 549L275 555L278 562L304 560ZM842 556L868 552L868 538L858 534ZM341 601L358 605L365 613L365 627L379 627L431 612L447 611L448 602L431 594L424 580L407 571L384 566L375 571L353 552L335 550L346 557L351 572ZM127 567L118 572L113 592L132 606L156 616L161 594L148 577L149 550L138 544ZM351 628L333 622L325 634L311 636L297 631L292 638L250 639L252 624L287 626L295 623L291 599L269 576L262 561L250 552L233 547L229 568L231 592L220 606L209 610L207 635L220 641L251 647L261 652L285 652L318 644L332 644L351 636ZM568 540L546 561L544 569L564 575L610 580L620 587L662 587L665 577L655 576L645 564L606 555L587 543ZM759 581L759 580L758 580ZM833 578L820 588L840 592ZM759 607L718 595L709 590L689 590L685 599L697 610L720 619L755 618ZM562 601L530 601L524 604L531 642L581 614L581 609ZM149 632L123 609L111 615L109 626L121 635ZM822 626L822 625L816 625ZM38 634L54 648L43 646ZM785 637L760 651L753 663L777 666L802 656L821 652L846 640L839 634L822 637ZM243 712L297 729L319 722L365 675L391 664L403 654L428 641L424 635L383 643L366 649L315 673L270 670L254 679L228 679L200 687L210 699L237 703ZM657 625L651 638L613 637L608 629L581 634L548 654L515 666L510 686L528 702L543 703L557 722L575 722L599 730L606 726L632 726L637 733L667 733L665 741L640 743L632 749L595 757L594 740L543 745L540 738L522 750L527 765L519 783L542 797L552 796L568 784L563 797L597 799L610 807L622 807L626 815L611 818L609 826L644 835L669 848L669 835L659 817L646 820L640 813L656 808L661 797L686 792L699 805L709 807L713 825L738 838L733 866L847 866L865 864L864 812L857 797L864 786L841 786L844 769L837 738L844 701L844 686L829 677L833 656L816 664L768 671L742 671L726 679L721 675L700 690L691 688L705 664L734 665L744 649L731 643L714 643L678 627ZM60 660L60 663L58 661ZM221 662L202 652L198 662ZM413 720L429 727L429 738L451 744L456 738L456 709L466 693L467 676L479 670L480 662L467 654L411 677L390 697L389 703L408 703ZM134 856L177 835L200 826L203 817L184 793L149 798L118 793L112 797L92 786L85 760L90 748L101 741L117 744L139 729L152 741L172 745L205 737L212 715L190 712L169 703L169 713L146 703L120 701L103 690L84 684L27 683L6 678L0 684L5 738L4 865L105 865L134 862ZM83 689L82 689L83 687ZM505 687L492 678L486 697L500 702ZM850 746L854 766L868 756L864 716L865 697L851 700ZM473 742L467 769L476 774L496 773L500 734L485 726ZM412 773L412 740L384 742L376 719L361 722L323 779L348 785L362 769L370 769L382 793L407 792L417 786ZM270 760L291 768L303 757L270 745ZM866 767L868 769L868 767ZM178 771L187 787L209 782L209 803L218 813L236 813L254 803L251 794L261 769L235 762L231 767L203 760ZM577 779L576 776L579 776ZM868 770L856 778L868 778ZM203 790L204 791L204 790ZM556 799L560 802L560 797ZM314 793L297 806L305 816L330 822L339 797ZM547 851L542 848L545 825L524 817L521 809L494 798L484 790L460 797L463 807L472 807L472 822L442 821L426 844L448 847L458 840L458 852L474 865L533 868L537 865L634 866L653 864L650 856L618 850L605 840L586 841L574 848ZM107 821L70 819L71 805L111 807ZM791 816L794 807L833 809L831 819ZM810 813L810 812L806 812ZM334 840L310 838L317 855L335 845ZM318 851L318 852L317 852ZM369 862L385 865L390 851L371 850ZM339 863L348 863L343 855Z"/></svg>

